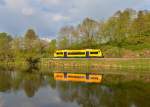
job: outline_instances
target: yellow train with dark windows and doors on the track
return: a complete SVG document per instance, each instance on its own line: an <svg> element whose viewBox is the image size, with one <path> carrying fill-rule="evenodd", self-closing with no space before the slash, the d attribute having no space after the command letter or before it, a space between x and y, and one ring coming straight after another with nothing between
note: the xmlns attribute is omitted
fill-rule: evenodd
<svg viewBox="0 0 150 107"><path fill-rule="evenodd" d="M84 50L56 50L55 58L102 58L104 57L100 49L84 49Z"/></svg>

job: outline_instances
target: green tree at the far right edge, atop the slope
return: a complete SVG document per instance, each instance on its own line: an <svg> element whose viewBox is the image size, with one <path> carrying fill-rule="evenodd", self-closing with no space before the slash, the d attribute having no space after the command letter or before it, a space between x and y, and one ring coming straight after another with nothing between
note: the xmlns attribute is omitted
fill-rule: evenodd
<svg viewBox="0 0 150 107"><path fill-rule="evenodd" d="M137 17L132 22L131 30L131 43L143 44L147 41L145 40L145 36L150 35L150 13L147 11L139 11Z"/></svg>

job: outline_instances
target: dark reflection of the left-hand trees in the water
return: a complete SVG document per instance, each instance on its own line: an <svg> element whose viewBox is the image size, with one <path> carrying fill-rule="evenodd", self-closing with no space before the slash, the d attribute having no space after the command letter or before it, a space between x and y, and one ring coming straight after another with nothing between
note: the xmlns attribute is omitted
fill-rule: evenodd
<svg viewBox="0 0 150 107"><path fill-rule="evenodd" d="M37 72L0 71L1 92L23 89L28 97L33 97L43 85L44 76Z"/></svg>

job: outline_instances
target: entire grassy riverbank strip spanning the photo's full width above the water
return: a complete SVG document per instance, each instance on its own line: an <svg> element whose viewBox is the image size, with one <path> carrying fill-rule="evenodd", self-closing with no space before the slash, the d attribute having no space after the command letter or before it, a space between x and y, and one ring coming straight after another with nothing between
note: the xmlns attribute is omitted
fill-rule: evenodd
<svg viewBox="0 0 150 107"><path fill-rule="evenodd" d="M15 60L10 62L0 62L0 66L8 68L73 68L73 69L120 69L130 71L130 69L138 72L150 72L150 58L41 58L36 64L29 64L24 60ZM68 70L70 71L70 70Z"/></svg>

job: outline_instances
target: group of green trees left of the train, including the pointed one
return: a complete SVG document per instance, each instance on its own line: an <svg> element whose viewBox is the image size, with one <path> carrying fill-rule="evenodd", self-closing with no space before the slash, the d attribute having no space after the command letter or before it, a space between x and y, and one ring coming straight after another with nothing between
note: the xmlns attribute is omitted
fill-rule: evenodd
<svg viewBox="0 0 150 107"><path fill-rule="evenodd" d="M34 63L47 53L47 49L48 42L39 39L34 30L29 29L24 37L13 39L7 33L0 33L1 61L15 59L25 61L27 64Z"/></svg>

